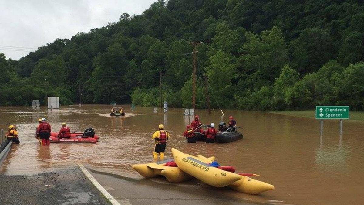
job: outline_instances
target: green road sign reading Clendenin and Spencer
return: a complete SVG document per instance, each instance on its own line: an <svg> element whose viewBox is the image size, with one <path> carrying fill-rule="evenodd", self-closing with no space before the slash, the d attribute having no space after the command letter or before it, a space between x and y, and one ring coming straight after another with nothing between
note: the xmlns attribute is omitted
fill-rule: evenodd
<svg viewBox="0 0 364 205"><path fill-rule="evenodd" d="M316 106L316 119L349 119L349 106Z"/></svg>

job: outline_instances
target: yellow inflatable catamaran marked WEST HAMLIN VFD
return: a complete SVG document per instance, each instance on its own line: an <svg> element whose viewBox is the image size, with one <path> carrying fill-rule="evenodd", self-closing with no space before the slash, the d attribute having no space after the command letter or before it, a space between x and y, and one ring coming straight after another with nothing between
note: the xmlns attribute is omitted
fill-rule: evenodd
<svg viewBox="0 0 364 205"><path fill-rule="evenodd" d="M175 148L172 148L172 155L179 169L208 185L215 187L229 186L247 194L259 194L274 189L274 186L269 183L218 169L210 166L211 161L208 159L188 155Z"/></svg>

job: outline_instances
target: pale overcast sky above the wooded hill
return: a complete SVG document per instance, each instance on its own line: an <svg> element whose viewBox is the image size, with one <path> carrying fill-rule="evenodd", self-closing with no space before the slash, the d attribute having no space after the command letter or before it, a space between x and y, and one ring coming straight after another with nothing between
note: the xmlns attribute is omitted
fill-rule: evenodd
<svg viewBox="0 0 364 205"><path fill-rule="evenodd" d="M56 38L118 22L123 13L141 15L154 1L0 0L0 53L19 60Z"/></svg>

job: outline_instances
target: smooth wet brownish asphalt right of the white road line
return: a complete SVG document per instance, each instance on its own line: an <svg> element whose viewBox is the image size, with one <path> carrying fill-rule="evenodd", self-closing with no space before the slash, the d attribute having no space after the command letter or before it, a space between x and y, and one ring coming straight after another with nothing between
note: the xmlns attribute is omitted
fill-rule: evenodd
<svg viewBox="0 0 364 205"><path fill-rule="evenodd" d="M88 171L123 205L263 205L235 197L234 190L211 187L197 179L170 183L163 177L135 179L91 169Z"/></svg>

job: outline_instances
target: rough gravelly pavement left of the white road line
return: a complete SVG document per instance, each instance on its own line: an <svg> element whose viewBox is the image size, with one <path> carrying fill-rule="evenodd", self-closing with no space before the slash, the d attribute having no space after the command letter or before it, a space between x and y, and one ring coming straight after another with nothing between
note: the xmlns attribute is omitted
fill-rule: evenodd
<svg viewBox="0 0 364 205"><path fill-rule="evenodd" d="M110 202L79 167L35 175L0 175L0 204L7 205L107 205Z"/></svg>

